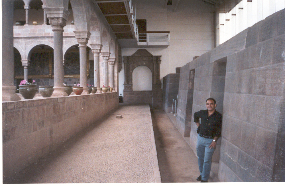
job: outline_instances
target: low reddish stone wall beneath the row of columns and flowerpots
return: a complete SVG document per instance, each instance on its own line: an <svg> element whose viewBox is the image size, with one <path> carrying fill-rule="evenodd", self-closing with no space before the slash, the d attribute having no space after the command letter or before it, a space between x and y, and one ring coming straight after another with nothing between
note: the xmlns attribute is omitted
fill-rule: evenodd
<svg viewBox="0 0 285 186"><path fill-rule="evenodd" d="M36 163L118 105L117 92L3 102L3 176Z"/></svg>

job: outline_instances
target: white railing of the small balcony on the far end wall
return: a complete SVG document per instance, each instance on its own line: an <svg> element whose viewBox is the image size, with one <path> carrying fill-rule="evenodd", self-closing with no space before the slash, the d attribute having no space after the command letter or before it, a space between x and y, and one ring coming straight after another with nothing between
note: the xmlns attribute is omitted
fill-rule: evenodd
<svg viewBox="0 0 285 186"><path fill-rule="evenodd" d="M169 32L144 32L138 35L138 45L169 45Z"/></svg>

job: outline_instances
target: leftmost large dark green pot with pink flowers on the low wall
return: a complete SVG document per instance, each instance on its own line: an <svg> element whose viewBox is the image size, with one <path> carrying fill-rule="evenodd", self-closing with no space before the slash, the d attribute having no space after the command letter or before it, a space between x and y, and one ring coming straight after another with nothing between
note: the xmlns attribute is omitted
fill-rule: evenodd
<svg viewBox="0 0 285 186"><path fill-rule="evenodd" d="M24 99L32 99L36 95L36 92L38 92L38 89L36 88L34 82L36 81L32 80L30 83L25 79L21 80L19 84L19 92Z"/></svg>

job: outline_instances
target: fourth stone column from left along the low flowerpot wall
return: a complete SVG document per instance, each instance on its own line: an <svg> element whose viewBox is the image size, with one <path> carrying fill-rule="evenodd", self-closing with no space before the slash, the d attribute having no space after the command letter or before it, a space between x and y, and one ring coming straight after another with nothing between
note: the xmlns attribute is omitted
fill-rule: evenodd
<svg viewBox="0 0 285 186"><path fill-rule="evenodd" d="M102 45L101 44L90 44L92 53L94 56L94 87L97 87L96 93L102 93L100 89L100 56Z"/></svg>

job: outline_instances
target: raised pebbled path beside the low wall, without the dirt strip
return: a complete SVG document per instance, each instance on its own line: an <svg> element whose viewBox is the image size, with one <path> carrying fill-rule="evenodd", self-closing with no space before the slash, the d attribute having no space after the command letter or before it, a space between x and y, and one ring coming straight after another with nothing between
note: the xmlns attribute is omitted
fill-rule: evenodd
<svg viewBox="0 0 285 186"><path fill-rule="evenodd" d="M123 118L116 118L122 115ZM160 182L150 108L119 106L3 183Z"/></svg>

